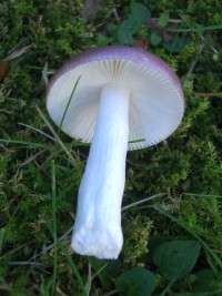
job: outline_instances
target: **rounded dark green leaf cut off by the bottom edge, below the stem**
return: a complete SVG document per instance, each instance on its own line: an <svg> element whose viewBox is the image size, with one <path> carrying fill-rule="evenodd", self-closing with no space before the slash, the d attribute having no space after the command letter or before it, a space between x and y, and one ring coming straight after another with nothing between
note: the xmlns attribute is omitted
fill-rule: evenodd
<svg viewBox="0 0 222 296"><path fill-rule="evenodd" d="M115 288L127 296L150 296L154 287L154 275L144 268L124 272L115 282Z"/></svg>

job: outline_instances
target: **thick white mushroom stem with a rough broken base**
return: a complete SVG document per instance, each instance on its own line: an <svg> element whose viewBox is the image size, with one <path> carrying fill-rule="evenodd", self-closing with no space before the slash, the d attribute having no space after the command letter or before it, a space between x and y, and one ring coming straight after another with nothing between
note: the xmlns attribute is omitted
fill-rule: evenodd
<svg viewBox="0 0 222 296"><path fill-rule="evenodd" d="M130 92L117 83L101 90L93 141L79 188L72 248L117 258L123 244L121 203L125 182Z"/></svg>

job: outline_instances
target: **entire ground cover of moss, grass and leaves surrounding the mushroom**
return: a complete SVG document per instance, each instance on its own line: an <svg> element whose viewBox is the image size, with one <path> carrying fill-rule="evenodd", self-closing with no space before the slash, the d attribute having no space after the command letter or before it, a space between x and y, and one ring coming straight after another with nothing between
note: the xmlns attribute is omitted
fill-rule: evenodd
<svg viewBox="0 0 222 296"><path fill-rule="evenodd" d="M82 1L0 4L1 60L22 53L0 63L0 295L222 295L221 4L114 2L90 21ZM124 246L119 259L98 261L70 248L89 145L53 125L46 81L88 48L129 42L176 71L186 109L164 143L129 152ZM181 252L189 244L200 252ZM173 267L159 265L173 247Z"/></svg>

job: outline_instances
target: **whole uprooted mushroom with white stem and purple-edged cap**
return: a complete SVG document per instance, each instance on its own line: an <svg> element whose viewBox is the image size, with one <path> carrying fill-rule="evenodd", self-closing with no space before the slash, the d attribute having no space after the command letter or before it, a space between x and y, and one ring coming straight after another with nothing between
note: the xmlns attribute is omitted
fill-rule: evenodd
<svg viewBox="0 0 222 296"><path fill-rule="evenodd" d="M180 81L168 64L142 49L92 49L54 74L47 109L57 125L63 120L64 133L92 143L71 246L81 255L117 258L123 244L127 151L158 144L176 130L184 112Z"/></svg>

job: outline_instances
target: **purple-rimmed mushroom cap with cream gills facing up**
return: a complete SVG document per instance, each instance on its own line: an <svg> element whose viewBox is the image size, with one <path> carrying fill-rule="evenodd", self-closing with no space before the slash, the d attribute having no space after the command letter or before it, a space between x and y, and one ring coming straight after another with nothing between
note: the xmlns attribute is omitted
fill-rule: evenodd
<svg viewBox="0 0 222 296"><path fill-rule="evenodd" d="M184 96L172 69L142 49L118 45L88 50L57 71L47 92L50 116L60 126L67 112L61 130L73 139L90 143L101 88L110 82L130 90L129 150L163 141L181 123Z"/></svg>

